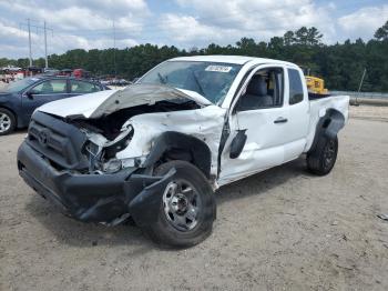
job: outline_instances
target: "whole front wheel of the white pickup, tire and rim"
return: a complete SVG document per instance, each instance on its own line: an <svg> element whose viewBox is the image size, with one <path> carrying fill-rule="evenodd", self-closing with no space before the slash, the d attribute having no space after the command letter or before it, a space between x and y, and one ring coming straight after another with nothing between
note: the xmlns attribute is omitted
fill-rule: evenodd
<svg viewBox="0 0 388 291"><path fill-rule="evenodd" d="M192 247L212 233L214 194L205 175L185 161L166 162L155 170L155 175L164 175L173 168L176 174L161 193L157 221L145 232L157 243Z"/></svg>

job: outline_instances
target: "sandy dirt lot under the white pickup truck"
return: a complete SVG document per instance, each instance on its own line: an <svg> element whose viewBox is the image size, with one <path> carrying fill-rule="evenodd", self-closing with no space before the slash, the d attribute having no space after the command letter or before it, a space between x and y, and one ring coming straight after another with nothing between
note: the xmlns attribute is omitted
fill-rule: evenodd
<svg viewBox="0 0 388 291"><path fill-rule="evenodd" d="M0 290L388 290L376 217L388 213L388 114L376 116L353 108L327 177L299 159L222 188L213 234L180 251L57 213L18 177L25 132L1 137Z"/></svg>

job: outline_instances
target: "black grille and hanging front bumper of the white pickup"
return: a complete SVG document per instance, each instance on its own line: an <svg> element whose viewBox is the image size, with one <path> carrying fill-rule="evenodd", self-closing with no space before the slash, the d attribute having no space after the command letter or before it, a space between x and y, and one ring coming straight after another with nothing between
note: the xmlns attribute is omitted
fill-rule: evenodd
<svg viewBox="0 0 388 291"><path fill-rule="evenodd" d="M130 215L139 224L156 219L159 193L174 179L174 171L152 177L135 164L114 164L114 153L126 147L133 134L130 127L112 141L82 131L35 112L18 151L20 175L76 220L114 225Z"/></svg>

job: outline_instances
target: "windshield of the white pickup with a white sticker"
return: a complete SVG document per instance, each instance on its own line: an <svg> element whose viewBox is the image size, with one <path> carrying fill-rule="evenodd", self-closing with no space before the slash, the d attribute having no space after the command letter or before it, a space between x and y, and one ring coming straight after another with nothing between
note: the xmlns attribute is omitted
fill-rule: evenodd
<svg viewBox="0 0 388 291"><path fill-rule="evenodd" d="M229 90L241 64L198 61L166 61L152 69L137 83L166 84L191 90L218 103Z"/></svg>

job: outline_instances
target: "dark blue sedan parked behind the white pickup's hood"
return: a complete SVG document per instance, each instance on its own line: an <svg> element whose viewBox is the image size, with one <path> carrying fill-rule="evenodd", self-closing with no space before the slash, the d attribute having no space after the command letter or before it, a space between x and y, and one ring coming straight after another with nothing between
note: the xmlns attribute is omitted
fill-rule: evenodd
<svg viewBox="0 0 388 291"><path fill-rule="evenodd" d="M33 111L48 102L105 90L99 82L72 77L33 77L0 92L0 136L25 128Z"/></svg>

